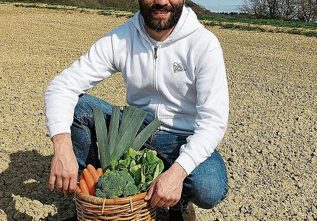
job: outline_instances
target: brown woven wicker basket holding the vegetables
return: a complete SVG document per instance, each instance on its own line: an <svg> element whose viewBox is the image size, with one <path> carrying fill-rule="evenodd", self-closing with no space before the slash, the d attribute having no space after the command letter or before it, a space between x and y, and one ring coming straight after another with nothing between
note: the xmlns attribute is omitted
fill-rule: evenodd
<svg viewBox="0 0 317 221"><path fill-rule="evenodd" d="M77 186L75 202L78 221L155 221L156 209L145 201L146 192L105 199L89 195Z"/></svg>

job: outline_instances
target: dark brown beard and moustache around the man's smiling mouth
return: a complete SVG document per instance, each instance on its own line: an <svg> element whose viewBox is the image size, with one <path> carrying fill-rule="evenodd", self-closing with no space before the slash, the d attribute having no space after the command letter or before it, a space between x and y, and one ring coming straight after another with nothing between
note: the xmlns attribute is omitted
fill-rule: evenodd
<svg viewBox="0 0 317 221"><path fill-rule="evenodd" d="M144 19L144 23L149 29L155 32L162 32L173 28L182 14L183 5L184 1L174 6L162 6L160 4L153 4L151 6L147 4L145 0L139 0L140 13ZM152 16L153 10L164 10L166 12L170 12L170 16L167 21L164 22L163 18L154 18Z"/></svg>

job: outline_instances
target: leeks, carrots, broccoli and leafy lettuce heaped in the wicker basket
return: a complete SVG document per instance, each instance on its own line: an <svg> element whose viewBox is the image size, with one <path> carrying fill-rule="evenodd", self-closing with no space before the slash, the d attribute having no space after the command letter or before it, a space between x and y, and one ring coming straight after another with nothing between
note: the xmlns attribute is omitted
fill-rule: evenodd
<svg viewBox="0 0 317 221"><path fill-rule="evenodd" d="M156 151L140 148L159 127L159 120L154 119L139 132L147 113L125 106L122 119L119 121L120 108L114 106L107 130L102 110L96 108L93 113L102 169L98 169L101 174L95 170L98 177L94 176L95 172L90 173L89 168L85 169L84 179L79 183L85 181L87 188L84 185L80 188L83 191L85 189L84 192L103 198L124 197L147 190L162 172L163 162L157 157ZM88 166L91 168L91 165Z"/></svg>

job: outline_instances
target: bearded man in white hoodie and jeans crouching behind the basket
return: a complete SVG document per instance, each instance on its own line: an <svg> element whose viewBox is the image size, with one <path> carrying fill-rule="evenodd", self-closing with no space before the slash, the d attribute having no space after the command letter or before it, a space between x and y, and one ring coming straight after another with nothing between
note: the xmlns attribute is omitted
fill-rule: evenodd
<svg viewBox="0 0 317 221"><path fill-rule="evenodd" d="M140 11L99 39L45 91L54 146L50 189L74 192L78 169L98 166L92 109L106 121L111 105L85 91L121 72L127 103L155 117L159 130L146 147L165 165L146 200L169 207L170 221L196 220L192 204L210 209L226 197L227 174L215 147L228 120L228 88L217 38L184 0L139 0ZM70 135L71 134L71 135Z"/></svg>

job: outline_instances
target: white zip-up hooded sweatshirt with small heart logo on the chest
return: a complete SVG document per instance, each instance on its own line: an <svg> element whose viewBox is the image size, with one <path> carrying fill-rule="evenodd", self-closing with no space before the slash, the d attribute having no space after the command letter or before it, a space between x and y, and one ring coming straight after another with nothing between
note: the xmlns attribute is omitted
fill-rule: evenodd
<svg viewBox="0 0 317 221"><path fill-rule="evenodd" d="M190 174L224 136L229 99L222 49L217 38L183 7L169 37L159 42L146 32L140 12L92 45L56 76L44 94L50 136L70 133L78 95L121 72L126 101L155 117L160 130L190 135L178 162Z"/></svg>

